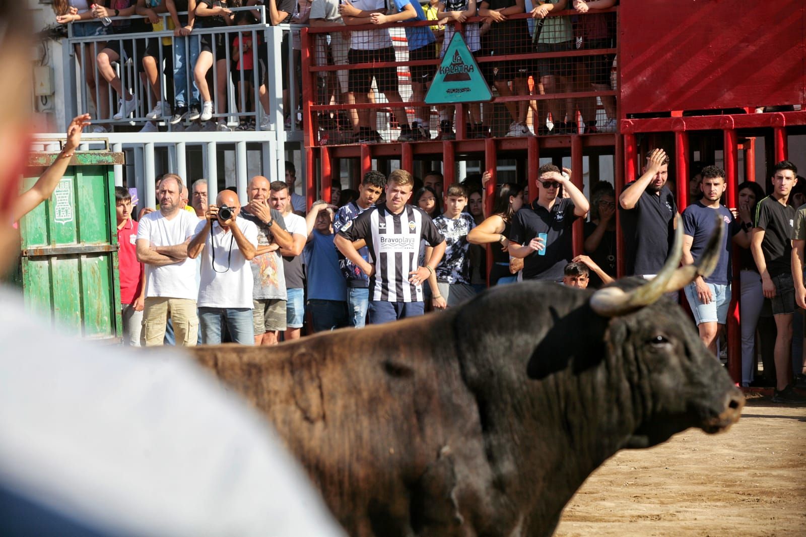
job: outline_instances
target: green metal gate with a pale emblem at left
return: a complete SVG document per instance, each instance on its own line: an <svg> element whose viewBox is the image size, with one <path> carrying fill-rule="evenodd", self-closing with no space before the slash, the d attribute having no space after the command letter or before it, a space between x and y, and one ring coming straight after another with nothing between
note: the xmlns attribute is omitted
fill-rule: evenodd
<svg viewBox="0 0 806 537"><path fill-rule="evenodd" d="M35 176L56 153L32 153ZM76 152L52 197L19 222L19 280L28 310L88 339L122 337L114 164L123 153ZM26 177L23 190L38 177Z"/></svg>

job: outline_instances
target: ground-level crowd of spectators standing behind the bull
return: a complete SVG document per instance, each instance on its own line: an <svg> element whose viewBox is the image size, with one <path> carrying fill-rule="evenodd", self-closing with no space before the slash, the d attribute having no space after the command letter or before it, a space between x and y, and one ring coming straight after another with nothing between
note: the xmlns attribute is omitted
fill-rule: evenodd
<svg viewBox="0 0 806 537"><path fill-rule="evenodd" d="M804 377L798 370L792 378L791 346L793 314L806 307L806 206L791 205L795 165L776 164L768 197L756 183L740 185L736 208L721 204L725 171L701 167L700 197L679 218L668 165L667 154L654 149L641 177L618 199L600 182L591 205L571 169L544 164L534 202L521 185L497 185L491 214L483 203L488 173L444 189L437 171L423 181L401 169L388 177L371 171L355 195L334 189L338 205L320 200L307 211L304 198L299 207L294 202L292 163L286 163L286 181L253 177L243 208L231 189L208 204L204 180L193 183L187 206L188 189L167 174L158 183L157 210L144 210L139 222L131 220L131 198L121 188L126 341L274 344L458 306L488 282L607 285L616 277L620 210L627 274L646 279L666 263L675 226L683 227L683 264L695 264L715 227L724 224L716 269L684 289L700 338L715 356L724 352L735 244L742 252L742 384L775 386L782 401L800 397L792 385ZM471 208L474 198L479 214ZM574 256L571 229L588 214L584 253ZM493 259L489 277L486 248ZM754 378L757 325L766 356L760 378Z"/></svg>

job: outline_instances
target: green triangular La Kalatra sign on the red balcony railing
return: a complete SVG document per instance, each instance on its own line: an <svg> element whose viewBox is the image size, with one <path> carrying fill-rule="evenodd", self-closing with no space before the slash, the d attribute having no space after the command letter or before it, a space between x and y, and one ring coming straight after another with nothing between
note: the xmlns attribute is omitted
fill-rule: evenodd
<svg viewBox="0 0 806 537"><path fill-rule="evenodd" d="M486 102L492 93L476 58L467 49L458 31L451 39L434 81L426 94L427 104L454 104L456 102Z"/></svg>

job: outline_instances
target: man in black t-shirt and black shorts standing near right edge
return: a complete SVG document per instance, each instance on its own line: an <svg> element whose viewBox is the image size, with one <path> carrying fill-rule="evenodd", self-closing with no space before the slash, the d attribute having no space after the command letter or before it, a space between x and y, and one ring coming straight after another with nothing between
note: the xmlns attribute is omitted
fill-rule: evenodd
<svg viewBox="0 0 806 537"><path fill-rule="evenodd" d="M789 205L789 194L797 183L795 164L775 164L772 194L756 205L750 252L761 274L762 291L769 298L775 318L775 392L773 402L803 399L790 385L792 317L795 314L795 283L791 270L791 239L797 211Z"/></svg>

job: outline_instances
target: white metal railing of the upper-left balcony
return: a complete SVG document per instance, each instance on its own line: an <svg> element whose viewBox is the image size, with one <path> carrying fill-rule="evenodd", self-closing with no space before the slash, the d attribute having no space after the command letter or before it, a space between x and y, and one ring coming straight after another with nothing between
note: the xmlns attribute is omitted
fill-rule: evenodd
<svg viewBox="0 0 806 537"><path fill-rule="evenodd" d="M147 31L139 33L122 33L110 34L91 37L75 37L73 35L74 24L84 23L97 23L98 19L89 19L85 21L76 21L68 24L68 38L65 40L69 46L63 47L64 50L64 63L69 66L65 69L65 117L72 118L73 116L90 110L92 105L96 109L93 114L93 124L106 127L108 131L131 131L132 125L145 125L145 123L152 121L160 126L161 130L165 131L193 131L193 130L211 130L215 128L216 123L224 123L229 128L235 130L238 128L239 123L253 123L254 127L250 130L261 131L276 131L278 139L301 140L301 127L297 123L297 110L301 109L301 90L298 87L298 79L295 76L298 61L295 61L293 47L291 46L292 37L291 32L298 31L301 26L280 24L278 26L271 26L265 23L266 15L264 6L250 6L231 8L232 11L251 10L258 11L260 14L260 22L248 25L238 25L229 27L218 28L193 28L190 35L175 36L173 30L168 29L164 31ZM185 12L180 15L184 15ZM141 15L135 15L130 18L124 17L111 17L112 21L123 19L139 19ZM160 14L160 18L164 21L164 27L168 28L168 21L171 21L171 15L168 13ZM210 94L214 102L213 118L206 126L195 122L182 122L177 125L172 125L168 121L171 115L171 108L174 104L174 95L177 94L176 89L172 94L168 94L168 87L173 85L174 73L167 71L164 65L172 65L172 58L166 58L169 53L175 56L175 47L181 47L178 43L179 40L184 40L185 50L185 77L183 83L185 85L185 106L191 106L193 101L193 94L195 93L195 83L193 80L193 67L195 62L191 62L190 56L193 50L200 50L199 41L203 35L222 35L223 36L223 56L226 59L226 77L227 80L222 83L225 86L225 94L218 94L216 89L219 86L219 73L214 65L210 69L212 72L213 84L210 85ZM243 55L243 41L239 39L237 49L232 48L233 41L236 36L243 35L250 37L253 44L260 45L253 47L253 64L251 77L248 77L244 70L235 69L233 56L238 58ZM156 47L157 54L154 56L157 60L156 68L159 77L159 91L160 94L156 98L152 95L152 89L147 81L143 81L144 69L142 67L143 52L146 49L146 40L153 42L159 40L159 45ZM165 42L163 41L165 40ZM169 40L170 44L167 44ZM283 47L283 41L288 40L288 47ZM137 106L135 110L128 114L127 117L122 119L114 119L114 114L118 111L118 94L108 85L102 77L98 69L97 61L93 61L92 65L83 65L83 59L86 50L89 48L90 56L98 58L98 53L102 49L108 47L109 44L117 42L117 48L121 51L121 58L114 62L113 69L120 79L121 86L124 92L131 92L135 98ZM221 54L218 44L218 38L211 39L213 55L216 53ZM78 54L76 53L78 49ZM124 56L124 49L131 51ZM288 62L288 102L283 106L283 53L285 53L285 61ZM131 57L130 57L131 56ZM262 65L262 68L259 67ZM93 69L93 77L96 81L95 90L90 93L87 85L85 84L85 69ZM263 99L264 106L261 106L260 96L260 74L261 69L265 71L265 85L266 97ZM175 69L174 69L175 70ZM238 86L234 83L239 82ZM250 82L251 89L247 90L247 82ZM170 79L170 80L169 80ZM251 100L251 106L243 106L243 103ZM158 119L150 119L147 114L152 110L157 102L168 103L164 109L163 117ZM202 106L199 102L198 106ZM219 112L218 110L222 110ZM102 113L102 111L104 113ZM108 110L108 111L107 111ZM106 117L102 117L106 116ZM268 120L264 121L264 126L261 128L261 120L268 116ZM285 117L284 117L285 116Z"/></svg>

